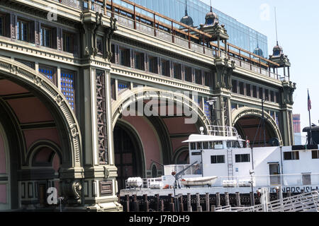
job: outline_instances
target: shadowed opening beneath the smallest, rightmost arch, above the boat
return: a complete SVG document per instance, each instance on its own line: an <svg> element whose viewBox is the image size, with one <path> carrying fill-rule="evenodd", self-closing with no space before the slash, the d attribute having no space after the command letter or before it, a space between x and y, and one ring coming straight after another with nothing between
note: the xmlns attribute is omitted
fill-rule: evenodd
<svg viewBox="0 0 319 226"><path fill-rule="evenodd" d="M235 129L245 140L250 141L251 147L272 146L274 139L278 139L276 132L267 119L262 123L262 117L245 115L235 123Z"/></svg>

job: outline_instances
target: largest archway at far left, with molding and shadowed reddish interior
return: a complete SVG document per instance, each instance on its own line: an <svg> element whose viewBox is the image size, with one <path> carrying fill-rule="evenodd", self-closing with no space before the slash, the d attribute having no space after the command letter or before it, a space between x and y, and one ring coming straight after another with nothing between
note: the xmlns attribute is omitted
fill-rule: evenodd
<svg viewBox="0 0 319 226"><path fill-rule="evenodd" d="M6 191L8 209L41 208L40 193L44 203L47 188L59 189L63 182L60 177L65 172L58 172L60 166L64 170L81 167L79 126L66 98L45 76L17 61L2 57L0 61L0 133L2 140L7 138L9 166L5 174L0 172L0 177L4 175L0 194ZM55 147L35 148L40 141ZM72 174L67 177L73 179Z"/></svg>

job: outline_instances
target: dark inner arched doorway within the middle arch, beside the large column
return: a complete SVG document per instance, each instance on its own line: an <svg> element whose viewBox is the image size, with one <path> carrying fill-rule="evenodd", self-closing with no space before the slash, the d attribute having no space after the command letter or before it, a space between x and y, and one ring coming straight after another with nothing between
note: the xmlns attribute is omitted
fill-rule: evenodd
<svg viewBox="0 0 319 226"><path fill-rule="evenodd" d="M142 145L133 129L118 123L113 130L115 164L118 168L118 189L125 188L128 177L142 177L144 157Z"/></svg>

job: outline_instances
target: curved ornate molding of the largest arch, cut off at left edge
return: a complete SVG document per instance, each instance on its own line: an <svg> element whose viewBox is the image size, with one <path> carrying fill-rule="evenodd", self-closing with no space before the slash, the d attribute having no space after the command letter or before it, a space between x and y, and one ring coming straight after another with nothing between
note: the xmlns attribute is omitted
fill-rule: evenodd
<svg viewBox="0 0 319 226"><path fill-rule="evenodd" d="M0 57L0 74L11 81L33 88L46 97L46 100L49 100L62 119L63 126L67 129L67 141L72 156L66 167L82 168L82 141L79 124L67 99L60 90L38 71L13 59Z"/></svg>

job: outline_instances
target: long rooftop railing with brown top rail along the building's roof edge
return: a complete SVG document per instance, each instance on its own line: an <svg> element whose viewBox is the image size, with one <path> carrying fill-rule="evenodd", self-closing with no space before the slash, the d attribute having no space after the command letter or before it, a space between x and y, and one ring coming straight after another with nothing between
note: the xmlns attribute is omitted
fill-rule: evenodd
<svg viewBox="0 0 319 226"><path fill-rule="evenodd" d="M121 0L125 4L125 7L114 3L113 0L53 1L79 10L91 9L108 17L113 16L118 20L118 23L128 28L153 35L200 54L206 54L211 57L218 56L218 44L216 42L206 42L206 40L212 37L211 35L131 1ZM236 66L276 80L290 81L289 76L281 76L275 70L271 71L271 69L279 67L279 64L276 64L274 61L259 57L230 43L227 43L226 49L220 46L220 50L221 57L235 61Z"/></svg>

